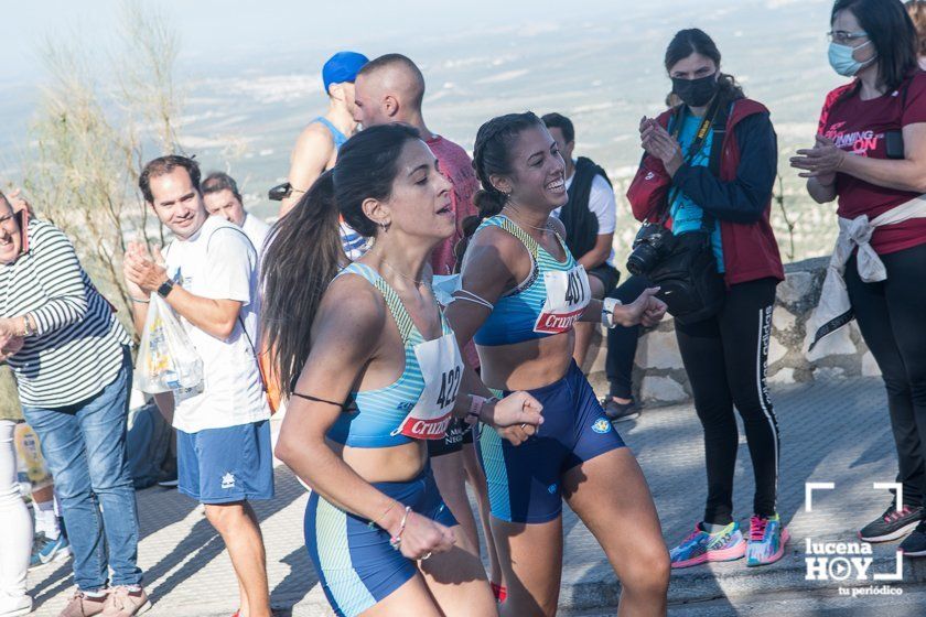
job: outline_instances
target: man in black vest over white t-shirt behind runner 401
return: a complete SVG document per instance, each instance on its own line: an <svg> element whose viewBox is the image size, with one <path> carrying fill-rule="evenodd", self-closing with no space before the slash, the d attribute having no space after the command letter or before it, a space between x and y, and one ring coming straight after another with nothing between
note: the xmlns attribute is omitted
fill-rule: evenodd
<svg viewBox="0 0 926 617"><path fill-rule="evenodd" d="M614 227L617 204L607 174L590 159L572 159L575 130L572 121L560 113L542 118L566 162L566 190L569 201L553 210L566 226L566 243L575 260L585 267L592 295L602 299L616 285L620 274L614 268ZM572 357L580 367L585 361L589 345L597 324L575 324L575 349Z"/></svg>

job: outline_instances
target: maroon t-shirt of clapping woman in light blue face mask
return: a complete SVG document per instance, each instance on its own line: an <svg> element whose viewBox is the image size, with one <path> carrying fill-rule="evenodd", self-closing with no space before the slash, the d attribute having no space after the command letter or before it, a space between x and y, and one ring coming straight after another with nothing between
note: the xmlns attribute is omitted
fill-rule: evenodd
<svg viewBox="0 0 926 617"><path fill-rule="evenodd" d="M817 131L833 140L838 148L859 156L886 159L885 131L926 122L926 73L919 71L907 82L903 105L904 85L871 100L859 98L853 91L855 87L853 82L832 90L820 115ZM844 173L836 174L836 193L839 195L837 213L844 218L863 214L874 218L918 195L877 186ZM872 248L880 255L923 243L926 243L926 218L884 225L871 238Z"/></svg>

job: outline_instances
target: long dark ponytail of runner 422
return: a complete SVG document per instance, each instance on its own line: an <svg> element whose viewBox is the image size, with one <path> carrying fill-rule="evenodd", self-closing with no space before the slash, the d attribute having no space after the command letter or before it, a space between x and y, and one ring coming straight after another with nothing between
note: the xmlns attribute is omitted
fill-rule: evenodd
<svg viewBox="0 0 926 617"><path fill-rule="evenodd" d="M323 173L273 226L265 245L261 321L280 389L292 394L311 346L312 323L329 283L345 260L334 174Z"/></svg>

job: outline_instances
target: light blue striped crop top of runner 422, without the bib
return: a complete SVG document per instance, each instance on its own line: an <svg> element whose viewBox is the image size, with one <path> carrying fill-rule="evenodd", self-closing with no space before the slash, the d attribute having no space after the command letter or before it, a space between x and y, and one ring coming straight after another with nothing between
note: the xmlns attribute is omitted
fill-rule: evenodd
<svg viewBox="0 0 926 617"><path fill-rule="evenodd" d="M405 344L406 366L401 377L390 386L351 392L353 404L337 418L327 436L336 443L354 447L390 447L410 443L411 437L398 433L398 429L424 391L424 377L414 354L416 345L424 343L424 337L412 323L398 294L376 270L355 262L337 275L344 274L363 277L383 294ZM444 335L453 332L443 313L441 326Z"/></svg>

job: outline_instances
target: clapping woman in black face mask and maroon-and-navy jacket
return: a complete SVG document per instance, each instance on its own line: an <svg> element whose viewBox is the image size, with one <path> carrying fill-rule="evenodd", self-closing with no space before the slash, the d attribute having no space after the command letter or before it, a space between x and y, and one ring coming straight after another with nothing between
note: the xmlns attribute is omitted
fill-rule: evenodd
<svg viewBox="0 0 926 617"><path fill-rule="evenodd" d="M676 321L704 429L708 497L703 519L671 550L672 567L743 555L747 565L764 565L783 556L788 538L776 509L778 425L765 387L775 286L784 279L768 224L776 137L768 110L720 72L720 52L704 32L677 33L665 66L681 104L640 122L645 154L627 197L640 220L666 220L668 214L676 235L710 234L725 281L719 313L697 323ZM756 486L746 538L733 518L740 439L734 405Z"/></svg>

